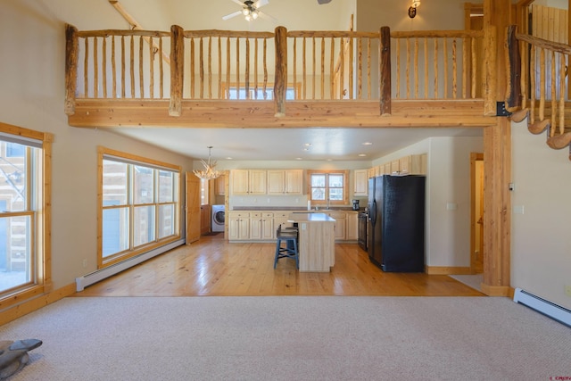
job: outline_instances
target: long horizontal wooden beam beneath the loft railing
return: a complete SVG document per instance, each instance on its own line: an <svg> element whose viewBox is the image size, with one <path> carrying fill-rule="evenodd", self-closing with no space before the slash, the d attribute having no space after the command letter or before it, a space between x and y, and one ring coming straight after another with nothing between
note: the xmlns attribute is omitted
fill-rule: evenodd
<svg viewBox="0 0 571 381"><path fill-rule="evenodd" d="M178 118L169 116L169 100L85 100L68 117L75 127L164 128L483 128L495 125L479 100L393 101L391 116L381 116L378 101L287 102L287 114L275 116L273 101L183 99Z"/></svg>

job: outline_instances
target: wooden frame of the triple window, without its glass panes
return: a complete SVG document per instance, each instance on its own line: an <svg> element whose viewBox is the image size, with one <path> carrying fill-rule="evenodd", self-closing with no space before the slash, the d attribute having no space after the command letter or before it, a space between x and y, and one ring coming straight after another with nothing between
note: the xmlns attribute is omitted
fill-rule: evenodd
<svg viewBox="0 0 571 381"><path fill-rule="evenodd" d="M127 168L127 201L120 205L103 205L103 161L116 159L116 162L126 163ZM126 261L141 253L147 253L155 248L161 247L165 244L177 241L181 238L181 197L182 197L182 170L178 165L170 164L167 162L159 162L153 159L145 158L142 156L133 155L130 153L122 153L103 146L97 147L97 269L109 267L120 261ZM141 166L153 169L153 202L152 203L136 203L133 197L133 167ZM169 170L176 174L173 179L172 185L173 200L169 202L161 202L159 178L161 170ZM174 234L170 236L160 237L159 216L160 210L163 205L174 205L175 215L171 219L175 224ZM154 222L153 222L153 239L145 244L136 244L134 242L133 234L133 216L135 209L153 206ZM103 257L103 211L111 209L128 209L128 248L118 253L112 253Z"/></svg>

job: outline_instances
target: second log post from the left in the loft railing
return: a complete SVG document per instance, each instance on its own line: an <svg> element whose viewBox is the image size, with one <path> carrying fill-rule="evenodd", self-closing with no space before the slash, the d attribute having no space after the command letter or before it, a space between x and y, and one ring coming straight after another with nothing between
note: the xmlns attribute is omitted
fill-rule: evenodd
<svg viewBox="0 0 571 381"><path fill-rule="evenodd" d="M182 113L182 93L185 70L185 36L178 25L170 27L170 105L169 115Z"/></svg>

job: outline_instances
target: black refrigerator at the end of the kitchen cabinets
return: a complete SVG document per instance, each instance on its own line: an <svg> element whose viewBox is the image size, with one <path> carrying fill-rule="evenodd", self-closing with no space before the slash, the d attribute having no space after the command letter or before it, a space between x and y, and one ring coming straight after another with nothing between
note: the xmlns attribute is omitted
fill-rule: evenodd
<svg viewBox="0 0 571 381"><path fill-rule="evenodd" d="M425 176L368 179L368 257L387 272L425 271Z"/></svg>

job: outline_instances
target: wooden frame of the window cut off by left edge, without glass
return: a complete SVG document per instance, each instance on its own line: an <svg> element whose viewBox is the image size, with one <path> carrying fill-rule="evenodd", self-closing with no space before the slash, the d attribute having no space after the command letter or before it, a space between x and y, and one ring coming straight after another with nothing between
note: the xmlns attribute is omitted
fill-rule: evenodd
<svg viewBox="0 0 571 381"><path fill-rule="evenodd" d="M22 145L27 145L26 140L41 142L34 168L30 169L32 176L27 178L27 200L26 211L2 212L1 216L30 216L30 281L24 285L12 287L0 292L0 309L12 307L15 304L29 301L41 294L46 294L52 290L52 143L54 135L47 132L40 132L29 128L21 128L0 122L0 133L7 139L17 141ZM12 141L13 141L12 140ZM35 146L35 145L27 145ZM29 149L26 149L29 156ZM30 158L29 158L30 159ZM32 195L32 192L35 195Z"/></svg>

